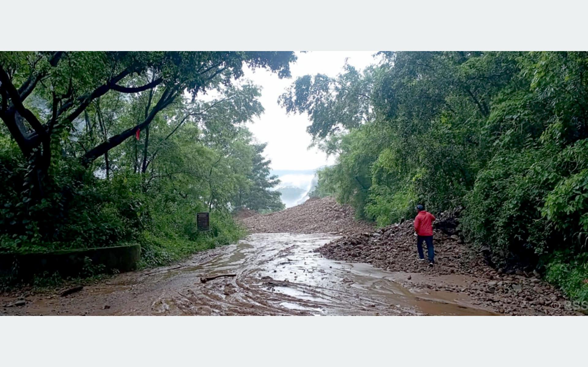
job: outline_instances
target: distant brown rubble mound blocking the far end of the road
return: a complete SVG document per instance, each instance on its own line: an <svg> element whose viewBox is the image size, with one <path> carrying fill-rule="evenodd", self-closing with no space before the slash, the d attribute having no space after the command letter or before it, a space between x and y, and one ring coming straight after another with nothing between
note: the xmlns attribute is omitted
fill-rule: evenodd
<svg viewBox="0 0 588 367"><path fill-rule="evenodd" d="M310 198L305 203L275 213L243 218L251 233L335 233L373 231L374 225L354 220L353 208L333 197Z"/></svg>

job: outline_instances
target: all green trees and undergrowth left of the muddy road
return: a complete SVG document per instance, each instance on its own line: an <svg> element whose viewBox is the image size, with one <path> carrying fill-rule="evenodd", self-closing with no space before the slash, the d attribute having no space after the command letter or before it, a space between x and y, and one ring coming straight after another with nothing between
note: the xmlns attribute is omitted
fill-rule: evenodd
<svg viewBox="0 0 588 367"><path fill-rule="evenodd" d="M265 144L245 126L263 107L243 67L282 78L294 61L0 52L0 252L140 243L145 267L242 237L232 211L283 208ZM211 212L206 233L201 211Z"/></svg>

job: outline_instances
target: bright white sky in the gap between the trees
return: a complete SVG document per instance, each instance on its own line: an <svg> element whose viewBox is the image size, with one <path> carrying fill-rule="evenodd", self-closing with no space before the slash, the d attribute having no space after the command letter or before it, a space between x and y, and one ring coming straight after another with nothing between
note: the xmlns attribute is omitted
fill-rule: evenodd
<svg viewBox="0 0 588 367"><path fill-rule="evenodd" d="M311 137L306 132L310 124L308 116L286 115L286 110L278 105L278 97L296 78L317 73L336 76L348 58L350 65L363 69L375 62L372 55L376 52L356 51L313 51L297 53L298 60L290 65L292 78L279 79L265 69L252 72L245 70L245 78L262 87L260 102L265 113L249 123L249 130L261 143L268 143L265 156L272 160L274 170L305 170L316 169L325 164L332 164L334 157L327 159L326 154L316 148L307 149Z"/></svg>

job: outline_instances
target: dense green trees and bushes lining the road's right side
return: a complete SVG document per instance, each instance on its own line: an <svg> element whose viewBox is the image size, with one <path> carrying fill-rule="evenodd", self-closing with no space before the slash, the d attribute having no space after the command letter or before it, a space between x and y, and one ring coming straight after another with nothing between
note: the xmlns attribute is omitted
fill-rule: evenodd
<svg viewBox="0 0 588 367"><path fill-rule="evenodd" d="M588 300L588 53L383 52L359 72L298 78L335 195L387 225L463 206L460 230L500 267Z"/></svg>

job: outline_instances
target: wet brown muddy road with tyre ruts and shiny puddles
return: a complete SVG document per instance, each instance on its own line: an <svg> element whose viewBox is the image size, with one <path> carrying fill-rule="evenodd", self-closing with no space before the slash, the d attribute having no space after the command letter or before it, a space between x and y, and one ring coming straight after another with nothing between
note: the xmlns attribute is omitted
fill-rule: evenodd
<svg viewBox="0 0 588 367"><path fill-rule="evenodd" d="M407 278L465 284L463 275L389 272L328 260L328 234L252 234L170 267L115 275L65 297L0 298L4 315L493 315L467 294L411 289ZM235 274L202 282L201 277ZM404 285L402 285L404 284ZM22 304L21 302L19 302ZM479 307L479 306L478 306Z"/></svg>

